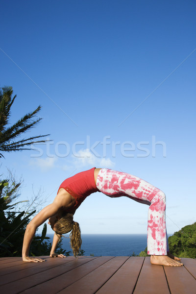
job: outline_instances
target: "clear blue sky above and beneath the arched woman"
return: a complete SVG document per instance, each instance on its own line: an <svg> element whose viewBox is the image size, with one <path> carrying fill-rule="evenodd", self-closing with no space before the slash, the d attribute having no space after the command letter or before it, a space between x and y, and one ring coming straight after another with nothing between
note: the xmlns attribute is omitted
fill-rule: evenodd
<svg viewBox="0 0 196 294"><path fill-rule="evenodd" d="M1 159L2 176L24 179L20 199L41 188L49 204L65 178L108 167L166 193L169 233L195 222L196 2L8 0L0 10L10 123L41 104L25 137L51 140ZM96 193L74 219L82 233L146 233L147 210Z"/></svg>

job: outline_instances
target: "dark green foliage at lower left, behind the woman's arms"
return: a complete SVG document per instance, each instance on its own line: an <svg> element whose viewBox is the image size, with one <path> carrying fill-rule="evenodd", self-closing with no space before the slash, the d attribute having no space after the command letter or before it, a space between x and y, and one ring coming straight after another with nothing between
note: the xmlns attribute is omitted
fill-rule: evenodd
<svg viewBox="0 0 196 294"><path fill-rule="evenodd" d="M3 194L3 189L8 187L9 183L1 181L0 183L0 257L6 256L22 256L22 244L25 234L26 225L30 221L30 217L35 213L35 210L25 216L25 211L17 213L13 211L15 204L11 204L12 195ZM8 189L7 191L10 191ZM15 190L14 190L15 191ZM31 247L30 255L40 256L49 255L51 243L45 241L49 237L46 237L47 225L44 225L42 235L34 237ZM62 242L60 241L56 248L56 253L70 255L71 251L66 252L62 248Z"/></svg>

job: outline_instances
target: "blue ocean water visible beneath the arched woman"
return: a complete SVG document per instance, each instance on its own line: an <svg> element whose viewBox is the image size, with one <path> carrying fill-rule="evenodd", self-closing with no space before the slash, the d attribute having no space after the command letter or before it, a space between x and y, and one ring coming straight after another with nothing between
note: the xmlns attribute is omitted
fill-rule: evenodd
<svg viewBox="0 0 196 294"><path fill-rule="evenodd" d="M53 234L47 234L52 242ZM66 235L69 237L69 235ZM82 246L84 255L90 256L130 256L133 253L138 255L147 247L146 234L82 234ZM62 238L63 249L72 251L70 239Z"/></svg>

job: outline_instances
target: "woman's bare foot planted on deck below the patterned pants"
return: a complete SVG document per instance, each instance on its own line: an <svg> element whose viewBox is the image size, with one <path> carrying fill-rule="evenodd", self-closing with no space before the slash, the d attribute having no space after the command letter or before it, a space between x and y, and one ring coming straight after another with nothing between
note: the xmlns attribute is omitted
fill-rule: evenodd
<svg viewBox="0 0 196 294"><path fill-rule="evenodd" d="M170 256L172 255L171 253L169 253ZM170 266L170 267L181 267L183 266L183 264L178 261L178 257L173 256L173 258L171 258L169 255L151 255L150 256L150 262L152 265L159 265L159 266ZM175 258L177 260L175 260Z"/></svg>

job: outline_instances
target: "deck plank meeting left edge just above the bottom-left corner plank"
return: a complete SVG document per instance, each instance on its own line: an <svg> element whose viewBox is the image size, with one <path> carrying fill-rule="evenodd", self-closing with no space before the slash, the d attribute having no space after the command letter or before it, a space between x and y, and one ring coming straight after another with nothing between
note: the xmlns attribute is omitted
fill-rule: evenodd
<svg viewBox="0 0 196 294"><path fill-rule="evenodd" d="M17 281L21 278L25 278L28 276L31 276L33 274L36 274L38 272L42 272L44 270L49 270L52 268L55 268L61 264L65 264L67 262L71 262L73 258L59 258L58 261L56 261L56 258L49 258L46 262L44 263L23 263L21 266L17 266L17 268L12 267L11 270L15 268L14 274L10 274L10 268L8 269L3 269L2 271L4 272L7 270L6 274L4 272L3 275L1 275L0 279L0 286Z"/></svg>

